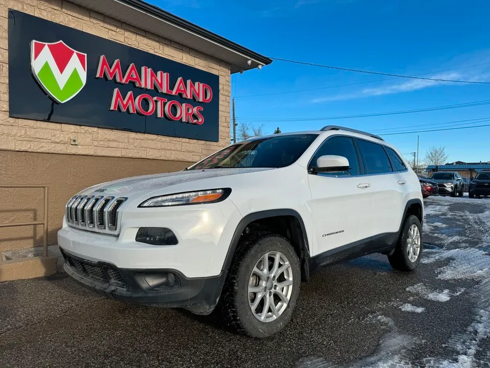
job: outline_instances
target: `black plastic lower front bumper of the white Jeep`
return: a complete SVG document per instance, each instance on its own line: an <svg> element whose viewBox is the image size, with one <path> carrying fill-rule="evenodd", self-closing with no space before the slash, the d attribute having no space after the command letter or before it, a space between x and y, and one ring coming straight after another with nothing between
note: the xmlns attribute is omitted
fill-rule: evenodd
<svg viewBox="0 0 490 368"><path fill-rule="evenodd" d="M61 253L66 273L83 286L121 302L151 307L211 313L226 278L226 271L215 277L190 279L176 270L117 268L79 258L62 248Z"/></svg>

